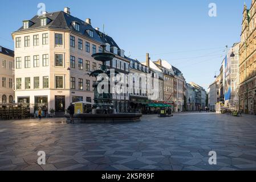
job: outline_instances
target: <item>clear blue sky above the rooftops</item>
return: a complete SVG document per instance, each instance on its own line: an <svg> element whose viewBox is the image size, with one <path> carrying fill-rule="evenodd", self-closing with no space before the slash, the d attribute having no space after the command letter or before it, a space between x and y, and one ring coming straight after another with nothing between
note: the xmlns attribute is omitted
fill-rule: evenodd
<svg viewBox="0 0 256 182"><path fill-rule="evenodd" d="M152 60L168 60L179 68L187 82L208 88L214 81L225 55L225 46L240 41L243 3L241 0L41 0L5 1L0 7L0 45L13 49L11 32L22 26L37 11L38 3L46 11L70 7L71 14L91 18L92 26L105 24L127 56L140 61L149 52ZM208 16L209 3L216 3L217 17ZM251 1L246 1L250 6ZM3 26L5 25L5 26Z"/></svg>

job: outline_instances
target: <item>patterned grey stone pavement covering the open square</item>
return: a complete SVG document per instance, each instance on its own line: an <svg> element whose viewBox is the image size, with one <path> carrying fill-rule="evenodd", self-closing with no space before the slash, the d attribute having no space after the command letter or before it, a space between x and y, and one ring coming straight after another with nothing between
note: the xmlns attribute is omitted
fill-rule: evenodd
<svg viewBox="0 0 256 182"><path fill-rule="evenodd" d="M146 115L138 123L0 121L0 170L256 170L256 117ZM37 164L38 151L46 165ZM217 165L209 165L209 151Z"/></svg>

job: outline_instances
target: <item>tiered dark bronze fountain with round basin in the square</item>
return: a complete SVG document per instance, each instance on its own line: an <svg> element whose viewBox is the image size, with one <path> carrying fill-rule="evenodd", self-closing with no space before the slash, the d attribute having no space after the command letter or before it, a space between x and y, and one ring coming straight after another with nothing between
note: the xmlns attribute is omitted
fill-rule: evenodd
<svg viewBox="0 0 256 182"><path fill-rule="evenodd" d="M137 122L140 121L142 114L138 113L116 113L116 110L113 105L112 93L110 93L110 75L111 72L107 70L106 62L115 58L113 53L105 52L105 44L103 46L103 52L95 53L92 55L95 60L101 61L99 70L96 70L90 74L90 76L98 77L100 74L108 76L108 93L99 93L98 85L104 80L96 80L94 87L94 108L92 114L75 114L75 122L81 123L122 123L122 122ZM115 75L118 72L115 72ZM103 88L104 89L104 88ZM67 122L70 121L69 115L66 114Z"/></svg>

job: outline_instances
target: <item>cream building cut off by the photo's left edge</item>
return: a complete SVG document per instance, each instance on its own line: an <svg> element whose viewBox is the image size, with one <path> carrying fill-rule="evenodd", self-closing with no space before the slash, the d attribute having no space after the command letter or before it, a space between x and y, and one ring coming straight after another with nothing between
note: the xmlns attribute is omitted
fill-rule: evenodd
<svg viewBox="0 0 256 182"><path fill-rule="evenodd" d="M14 101L14 51L0 46L0 104Z"/></svg>

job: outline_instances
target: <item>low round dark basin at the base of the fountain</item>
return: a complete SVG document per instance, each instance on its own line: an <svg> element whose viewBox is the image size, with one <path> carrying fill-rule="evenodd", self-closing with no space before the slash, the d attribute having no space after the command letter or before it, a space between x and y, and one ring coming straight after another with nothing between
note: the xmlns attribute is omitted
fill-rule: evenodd
<svg viewBox="0 0 256 182"><path fill-rule="evenodd" d="M70 122L70 115L65 114L67 122ZM128 123L139 122L142 114L74 114L74 121L78 123Z"/></svg>

